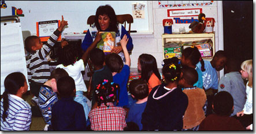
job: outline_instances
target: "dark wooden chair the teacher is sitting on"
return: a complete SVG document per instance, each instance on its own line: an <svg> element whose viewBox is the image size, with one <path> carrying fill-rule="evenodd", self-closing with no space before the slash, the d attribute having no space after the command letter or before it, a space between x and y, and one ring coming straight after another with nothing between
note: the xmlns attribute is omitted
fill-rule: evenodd
<svg viewBox="0 0 256 134"><path fill-rule="evenodd" d="M94 15L88 17L87 24L90 25L90 27L91 27L92 24L94 24L94 19L95 19ZM131 14L117 15L117 22L120 23L120 24L124 24L125 29L126 29L126 23L128 23L129 24L128 33L130 35L130 33L131 33L131 23L133 23L133 17L131 16ZM92 82L93 69L92 69L92 64L91 64L90 59L88 59L88 61L87 61L87 68L88 68L87 76L90 77L88 92L91 92L91 89L92 89L91 82Z"/></svg>

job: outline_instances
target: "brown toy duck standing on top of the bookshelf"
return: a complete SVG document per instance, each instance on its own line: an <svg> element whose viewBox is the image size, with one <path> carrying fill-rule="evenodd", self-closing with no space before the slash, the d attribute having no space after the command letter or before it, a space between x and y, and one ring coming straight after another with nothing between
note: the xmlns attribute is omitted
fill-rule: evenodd
<svg viewBox="0 0 256 134"><path fill-rule="evenodd" d="M197 22L197 21L193 21L191 24L190 24L190 26L189 26L189 28L191 28L191 31L192 32L195 32L195 33L203 33L203 31L205 31L205 25L203 24L204 21L205 20L205 14L204 13L200 13L199 15L198 15L198 21L199 22ZM190 31L190 32L191 32Z"/></svg>

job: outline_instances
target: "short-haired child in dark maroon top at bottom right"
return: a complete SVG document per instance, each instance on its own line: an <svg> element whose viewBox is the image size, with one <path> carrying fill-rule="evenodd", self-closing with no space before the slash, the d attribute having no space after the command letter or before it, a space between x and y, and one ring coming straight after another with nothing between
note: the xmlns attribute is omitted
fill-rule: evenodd
<svg viewBox="0 0 256 134"><path fill-rule="evenodd" d="M233 110L233 98L226 91L218 92L213 97L214 114L207 116L199 125L199 131L244 131L242 124L229 117Z"/></svg>

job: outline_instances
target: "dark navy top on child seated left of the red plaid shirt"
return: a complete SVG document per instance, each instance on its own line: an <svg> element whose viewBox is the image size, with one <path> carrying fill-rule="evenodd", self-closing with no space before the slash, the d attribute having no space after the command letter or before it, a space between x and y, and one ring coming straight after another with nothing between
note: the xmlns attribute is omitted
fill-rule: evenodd
<svg viewBox="0 0 256 134"><path fill-rule="evenodd" d="M51 108L54 131L85 131L86 116L83 106L73 97L59 99Z"/></svg>

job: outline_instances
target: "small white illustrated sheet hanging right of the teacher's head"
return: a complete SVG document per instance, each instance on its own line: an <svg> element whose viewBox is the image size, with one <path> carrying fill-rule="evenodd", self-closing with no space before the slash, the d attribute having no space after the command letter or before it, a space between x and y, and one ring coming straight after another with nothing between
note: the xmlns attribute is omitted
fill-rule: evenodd
<svg viewBox="0 0 256 134"><path fill-rule="evenodd" d="M133 18L145 18L145 4L144 3L133 3L132 4L132 17Z"/></svg>

